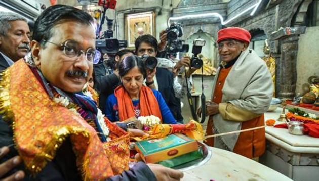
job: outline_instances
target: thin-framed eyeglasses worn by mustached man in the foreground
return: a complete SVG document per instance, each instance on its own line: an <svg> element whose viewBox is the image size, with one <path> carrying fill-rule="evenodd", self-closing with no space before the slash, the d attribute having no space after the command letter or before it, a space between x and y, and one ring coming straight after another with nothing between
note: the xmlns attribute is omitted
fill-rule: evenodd
<svg viewBox="0 0 319 181"><path fill-rule="evenodd" d="M54 44L54 45L60 47L62 52L64 53L64 55L66 55L67 57L73 58L73 57L79 57L82 54L85 54L85 57L87 58L87 60L89 62L94 61L94 56L95 56L96 50L93 48L89 48L89 49L87 49L87 51L83 51L80 49L79 44L75 41L67 40L61 44L56 44L54 42L47 41L47 40L42 40L42 41L48 42L48 43L51 43L51 44Z"/></svg>

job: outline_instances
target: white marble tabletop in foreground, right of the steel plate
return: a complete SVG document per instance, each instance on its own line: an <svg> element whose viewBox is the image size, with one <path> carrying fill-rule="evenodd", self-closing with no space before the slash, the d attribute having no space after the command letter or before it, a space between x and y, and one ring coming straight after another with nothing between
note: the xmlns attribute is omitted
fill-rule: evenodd
<svg viewBox="0 0 319 181"><path fill-rule="evenodd" d="M182 180L291 180L285 175L241 155L210 147L211 159L184 172Z"/></svg>

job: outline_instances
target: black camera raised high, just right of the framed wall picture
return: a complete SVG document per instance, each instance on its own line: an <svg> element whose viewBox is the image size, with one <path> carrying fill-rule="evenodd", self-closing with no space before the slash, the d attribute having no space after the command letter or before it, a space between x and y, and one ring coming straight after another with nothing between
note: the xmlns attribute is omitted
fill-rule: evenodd
<svg viewBox="0 0 319 181"><path fill-rule="evenodd" d="M181 24L174 22L165 31L167 33L167 53L188 52L188 45L183 44L184 41L179 39L183 36L183 28Z"/></svg>

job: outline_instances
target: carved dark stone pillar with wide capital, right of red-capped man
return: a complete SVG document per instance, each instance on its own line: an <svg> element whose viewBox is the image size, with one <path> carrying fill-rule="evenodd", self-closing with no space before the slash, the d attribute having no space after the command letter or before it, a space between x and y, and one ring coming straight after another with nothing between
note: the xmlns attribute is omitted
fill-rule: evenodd
<svg viewBox="0 0 319 181"><path fill-rule="evenodd" d="M292 99L297 82L297 52L299 35L306 27L280 28L270 35L271 40L279 40L280 59L276 58L276 97Z"/></svg>

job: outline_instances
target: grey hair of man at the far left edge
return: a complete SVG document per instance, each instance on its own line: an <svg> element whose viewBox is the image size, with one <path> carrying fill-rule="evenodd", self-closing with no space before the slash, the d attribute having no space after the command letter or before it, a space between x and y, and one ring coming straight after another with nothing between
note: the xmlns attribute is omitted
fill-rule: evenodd
<svg viewBox="0 0 319 181"><path fill-rule="evenodd" d="M16 13L11 12L0 12L0 35L6 35L8 29L10 29L10 21L25 21L28 22L26 18Z"/></svg>

